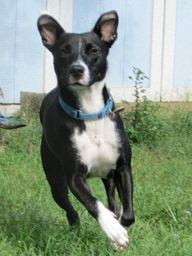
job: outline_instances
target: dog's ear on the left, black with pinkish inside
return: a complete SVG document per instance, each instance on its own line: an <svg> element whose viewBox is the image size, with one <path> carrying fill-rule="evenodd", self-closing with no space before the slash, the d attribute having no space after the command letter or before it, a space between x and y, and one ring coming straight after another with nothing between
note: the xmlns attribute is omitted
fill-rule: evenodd
<svg viewBox="0 0 192 256"><path fill-rule="evenodd" d="M37 27L42 38L42 44L50 51L61 33L65 32L58 22L47 14L38 18Z"/></svg>

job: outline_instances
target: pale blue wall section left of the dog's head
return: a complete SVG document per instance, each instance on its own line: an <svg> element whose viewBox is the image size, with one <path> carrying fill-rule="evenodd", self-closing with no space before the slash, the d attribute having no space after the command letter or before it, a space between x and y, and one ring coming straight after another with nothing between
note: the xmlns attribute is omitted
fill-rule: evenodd
<svg viewBox="0 0 192 256"><path fill-rule="evenodd" d="M44 0L1 0L0 87L5 98L0 102L20 102L20 91L42 92L38 9L44 9Z"/></svg>

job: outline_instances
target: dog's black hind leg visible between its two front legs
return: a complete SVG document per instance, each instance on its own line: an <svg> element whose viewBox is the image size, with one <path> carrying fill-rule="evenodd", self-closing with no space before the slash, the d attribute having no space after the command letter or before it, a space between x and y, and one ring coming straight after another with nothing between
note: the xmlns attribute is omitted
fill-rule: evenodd
<svg viewBox="0 0 192 256"><path fill-rule="evenodd" d="M115 199L114 179L102 179L102 182L106 190L106 196L108 197L109 210L114 212L117 218L119 218L119 208L117 206L116 199Z"/></svg>

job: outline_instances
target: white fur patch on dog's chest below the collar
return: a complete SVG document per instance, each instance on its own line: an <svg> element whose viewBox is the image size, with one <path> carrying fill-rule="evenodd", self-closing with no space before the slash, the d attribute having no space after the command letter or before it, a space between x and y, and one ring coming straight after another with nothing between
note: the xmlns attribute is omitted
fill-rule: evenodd
<svg viewBox="0 0 192 256"><path fill-rule="evenodd" d="M72 140L79 160L88 167L89 177L106 178L116 168L119 138L110 118L86 121L86 130L74 129Z"/></svg>

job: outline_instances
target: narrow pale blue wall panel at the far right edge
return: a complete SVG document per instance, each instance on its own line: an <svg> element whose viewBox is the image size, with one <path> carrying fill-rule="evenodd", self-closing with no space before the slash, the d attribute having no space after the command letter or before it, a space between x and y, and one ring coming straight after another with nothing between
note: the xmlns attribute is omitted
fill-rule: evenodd
<svg viewBox="0 0 192 256"><path fill-rule="evenodd" d="M192 1L178 0L174 86L192 87Z"/></svg>

